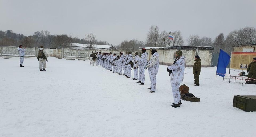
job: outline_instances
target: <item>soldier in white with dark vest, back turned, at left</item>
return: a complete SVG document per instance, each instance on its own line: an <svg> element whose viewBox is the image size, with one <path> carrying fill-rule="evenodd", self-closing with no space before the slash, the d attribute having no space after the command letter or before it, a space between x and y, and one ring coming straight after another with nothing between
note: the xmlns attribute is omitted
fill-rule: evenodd
<svg viewBox="0 0 256 137"><path fill-rule="evenodd" d="M43 49L43 46L40 46L40 49L38 49L38 56L37 59L39 61L39 70L40 71L46 71L46 61L47 61L47 53Z"/></svg>

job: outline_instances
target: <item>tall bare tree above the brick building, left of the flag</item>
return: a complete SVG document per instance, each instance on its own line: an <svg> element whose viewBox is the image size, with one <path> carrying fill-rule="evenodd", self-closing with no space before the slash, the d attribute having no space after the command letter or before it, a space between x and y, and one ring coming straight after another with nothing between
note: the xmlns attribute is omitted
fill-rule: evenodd
<svg viewBox="0 0 256 137"><path fill-rule="evenodd" d="M151 26L147 34L147 43L151 47L157 47L159 44L159 28L158 26Z"/></svg>

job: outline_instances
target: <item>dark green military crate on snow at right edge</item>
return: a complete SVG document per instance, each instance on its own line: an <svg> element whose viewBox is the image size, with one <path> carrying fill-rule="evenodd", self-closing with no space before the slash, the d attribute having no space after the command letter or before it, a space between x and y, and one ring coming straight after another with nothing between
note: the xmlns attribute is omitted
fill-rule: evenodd
<svg viewBox="0 0 256 137"><path fill-rule="evenodd" d="M233 107L243 111L256 111L256 95L234 96Z"/></svg>

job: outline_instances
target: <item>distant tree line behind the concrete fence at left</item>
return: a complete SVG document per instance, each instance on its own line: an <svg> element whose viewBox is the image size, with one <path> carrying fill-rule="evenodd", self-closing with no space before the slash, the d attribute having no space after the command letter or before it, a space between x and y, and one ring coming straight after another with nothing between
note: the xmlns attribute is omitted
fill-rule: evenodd
<svg viewBox="0 0 256 137"><path fill-rule="evenodd" d="M91 39L93 37L93 41ZM24 36L23 34L14 33L12 30L0 30L0 45L1 46L17 46L23 45L24 47L38 47L43 45L44 48L60 48L74 46L74 43L99 45L112 45L107 41L97 40L96 36L92 33L86 34L85 38L79 39L77 36L67 34L54 34L51 35L49 31L36 31L31 36Z"/></svg>

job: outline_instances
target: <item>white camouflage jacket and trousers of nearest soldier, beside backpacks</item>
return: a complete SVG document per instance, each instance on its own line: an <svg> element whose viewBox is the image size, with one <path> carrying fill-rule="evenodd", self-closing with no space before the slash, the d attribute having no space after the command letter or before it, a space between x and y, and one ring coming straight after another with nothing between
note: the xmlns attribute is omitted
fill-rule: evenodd
<svg viewBox="0 0 256 137"><path fill-rule="evenodd" d="M184 79L185 57L181 56L176 63L174 63L172 66L168 66L168 69L172 70L170 82L172 85L174 103L178 104L181 100L179 87L180 83Z"/></svg>

